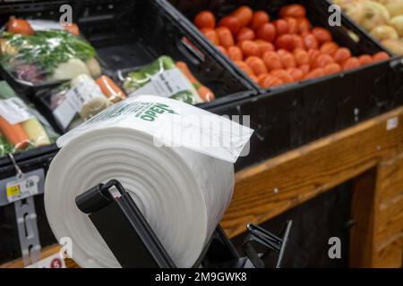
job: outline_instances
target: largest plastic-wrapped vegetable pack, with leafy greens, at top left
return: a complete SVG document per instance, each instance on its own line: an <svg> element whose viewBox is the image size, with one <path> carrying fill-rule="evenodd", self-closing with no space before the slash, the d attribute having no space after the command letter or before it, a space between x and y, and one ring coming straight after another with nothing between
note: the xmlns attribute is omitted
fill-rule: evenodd
<svg viewBox="0 0 403 286"><path fill-rule="evenodd" d="M75 36L78 31L56 29L57 23L33 23L31 29L13 27L11 19L0 36L0 63L16 80L30 85L71 80L79 74L98 77L101 68L95 49L85 39ZM46 24L44 25L43 22ZM76 27L76 26L73 26ZM78 30L78 29L77 29Z"/></svg>

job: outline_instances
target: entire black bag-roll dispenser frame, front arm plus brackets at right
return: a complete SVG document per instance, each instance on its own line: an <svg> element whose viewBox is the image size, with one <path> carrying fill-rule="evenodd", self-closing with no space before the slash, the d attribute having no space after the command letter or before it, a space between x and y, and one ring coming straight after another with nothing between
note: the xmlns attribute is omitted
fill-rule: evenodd
<svg viewBox="0 0 403 286"><path fill-rule="evenodd" d="M111 193L114 187L119 192L117 198L114 198ZM176 267L133 198L119 181L111 180L106 184L99 184L82 193L75 202L81 212L89 214L91 222L122 267ZM264 267L262 257L265 254L258 253L253 248L253 243L268 248L268 251L278 252L276 267L279 267L284 256L291 223L291 221L287 222L281 238L259 226L249 224L247 226L249 233L244 242L246 257L239 256L231 240L218 226L194 267Z"/></svg>

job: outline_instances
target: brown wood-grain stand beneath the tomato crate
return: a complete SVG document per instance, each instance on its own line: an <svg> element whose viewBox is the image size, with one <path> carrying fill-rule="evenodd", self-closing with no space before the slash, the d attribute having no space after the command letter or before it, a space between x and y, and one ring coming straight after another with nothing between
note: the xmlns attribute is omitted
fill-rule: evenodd
<svg viewBox="0 0 403 286"><path fill-rule="evenodd" d="M399 125L389 129L396 120ZM403 108L237 172L221 224L234 237L247 223L263 223L349 180L354 180L356 222L350 266L401 267ZM76 266L71 260L67 265ZM4 266L21 266L21 261Z"/></svg>

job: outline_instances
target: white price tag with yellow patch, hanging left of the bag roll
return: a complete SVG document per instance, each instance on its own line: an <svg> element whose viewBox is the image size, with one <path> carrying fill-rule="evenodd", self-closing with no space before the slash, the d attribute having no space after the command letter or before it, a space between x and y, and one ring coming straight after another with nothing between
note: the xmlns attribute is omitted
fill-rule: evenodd
<svg viewBox="0 0 403 286"><path fill-rule="evenodd" d="M5 186L7 200L12 203L22 198L28 198L38 194L38 184L38 175L7 182Z"/></svg>

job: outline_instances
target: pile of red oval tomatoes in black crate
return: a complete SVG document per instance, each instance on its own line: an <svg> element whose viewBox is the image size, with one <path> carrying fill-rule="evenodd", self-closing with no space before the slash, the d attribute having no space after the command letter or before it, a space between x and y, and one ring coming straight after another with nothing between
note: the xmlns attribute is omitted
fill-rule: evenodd
<svg viewBox="0 0 403 286"><path fill-rule="evenodd" d="M353 56L333 41L328 29L313 27L300 4L284 6L274 21L264 11L242 6L218 23L210 11L198 13L193 22L262 88L319 78L390 57L385 52Z"/></svg>

